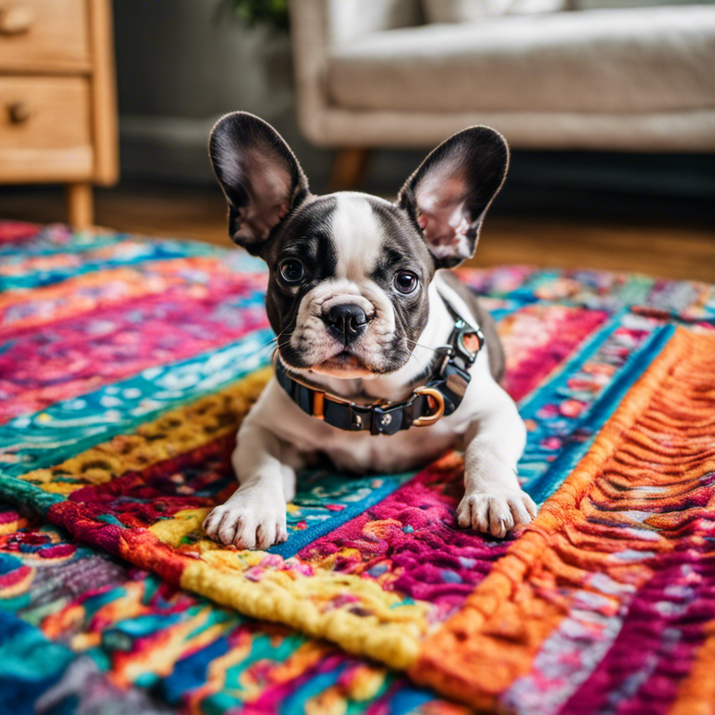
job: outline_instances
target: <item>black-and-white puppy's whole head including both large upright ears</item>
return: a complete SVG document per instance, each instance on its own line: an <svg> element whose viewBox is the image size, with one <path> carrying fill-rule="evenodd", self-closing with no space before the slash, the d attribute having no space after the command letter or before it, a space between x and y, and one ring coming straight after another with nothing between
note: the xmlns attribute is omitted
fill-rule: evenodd
<svg viewBox="0 0 715 715"><path fill-rule="evenodd" d="M429 154L394 204L356 192L318 197L275 129L245 112L220 119L209 154L230 237L270 268L266 307L282 359L340 378L408 362L435 270L474 254L508 165L501 134L470 127Z"/></svg>

